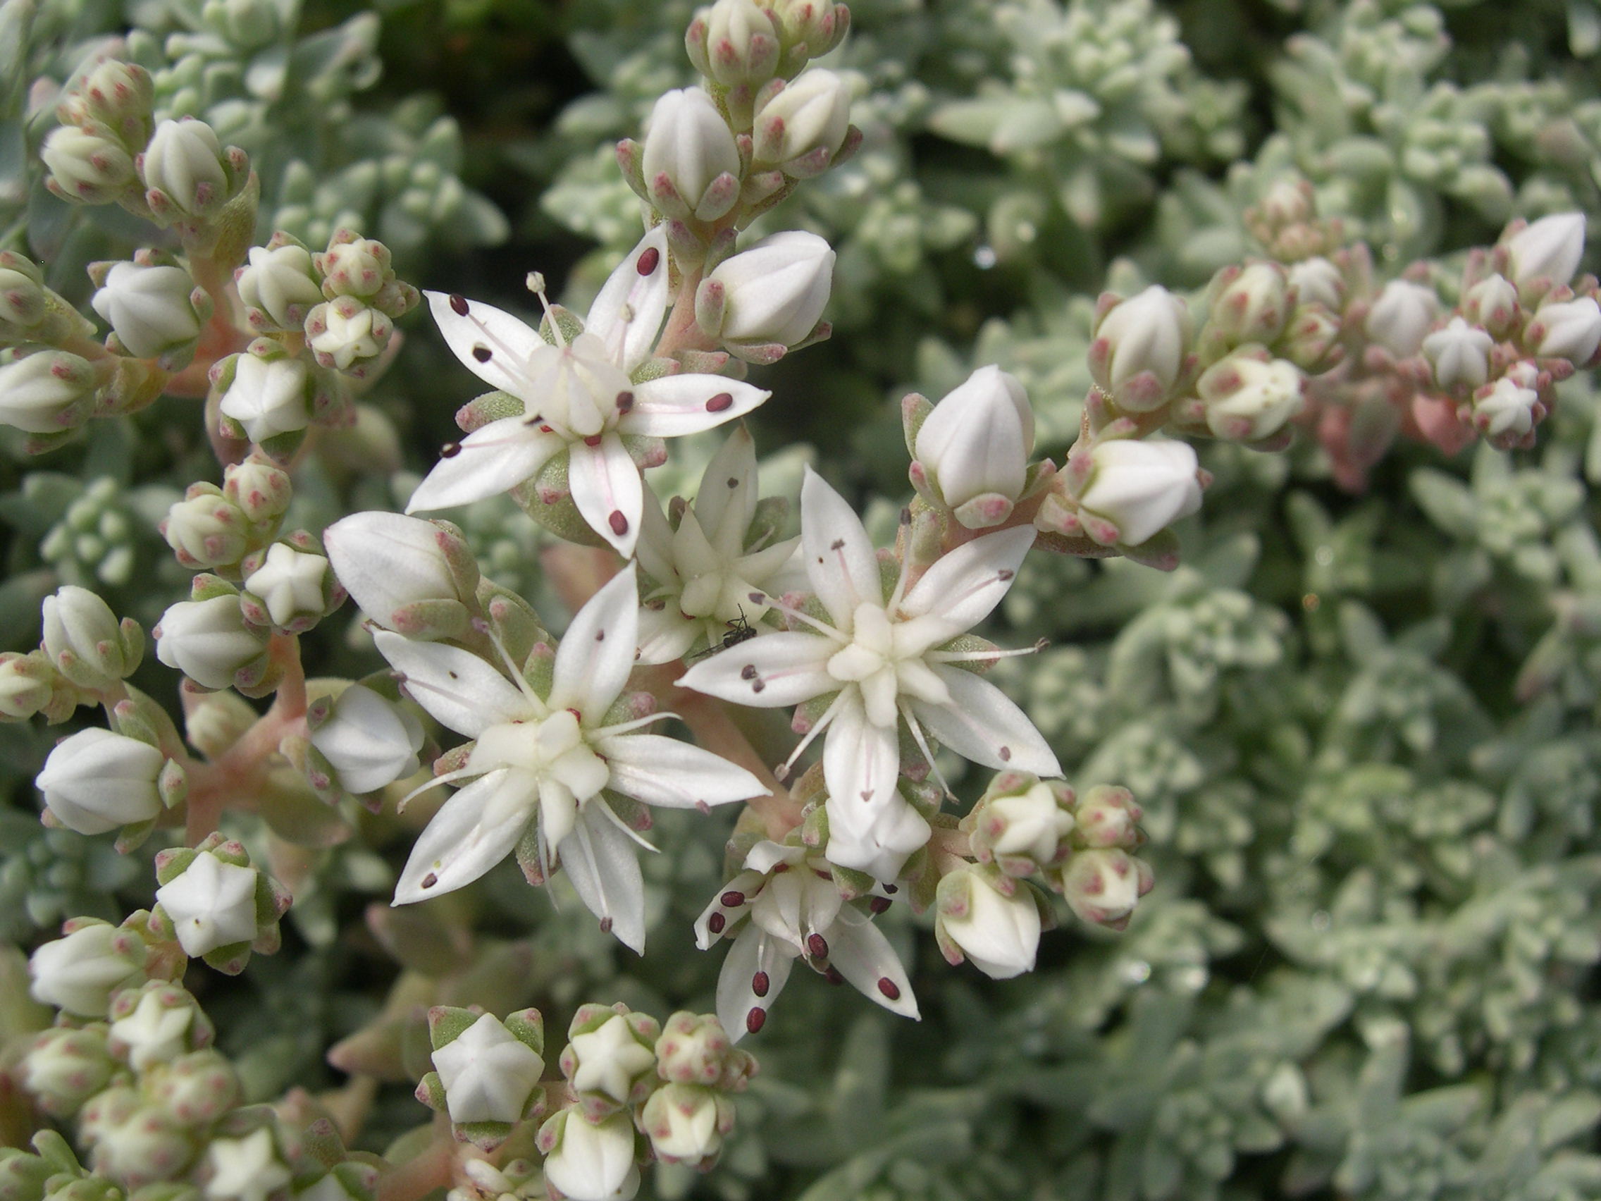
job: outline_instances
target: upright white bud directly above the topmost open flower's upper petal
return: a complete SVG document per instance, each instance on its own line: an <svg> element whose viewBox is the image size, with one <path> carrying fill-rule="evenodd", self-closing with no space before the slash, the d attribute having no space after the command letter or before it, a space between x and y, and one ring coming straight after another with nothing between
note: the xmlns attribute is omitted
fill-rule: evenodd
<svg viewBox="0 0 1601 1201"><path fill-rule="evenodd" d="M647 194L674 216L693 211L716 219L738 199L740 149L717 106L700 88L669 91L656 101L645 130L642 167ZM719 179L725 192L720 197L709 194Z"/></svg>

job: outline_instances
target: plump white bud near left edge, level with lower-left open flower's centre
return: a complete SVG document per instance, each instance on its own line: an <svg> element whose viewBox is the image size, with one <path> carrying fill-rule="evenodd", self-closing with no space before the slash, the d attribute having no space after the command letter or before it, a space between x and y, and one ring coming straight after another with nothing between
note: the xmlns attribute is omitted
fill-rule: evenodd
<svg viewBox="0 0 1601 1201"><path fill-rule="evenodd" d="M34 785L67 829L104 834L162 812L155 786L167 756L110 730L78 730L45 759Z"/></svg>

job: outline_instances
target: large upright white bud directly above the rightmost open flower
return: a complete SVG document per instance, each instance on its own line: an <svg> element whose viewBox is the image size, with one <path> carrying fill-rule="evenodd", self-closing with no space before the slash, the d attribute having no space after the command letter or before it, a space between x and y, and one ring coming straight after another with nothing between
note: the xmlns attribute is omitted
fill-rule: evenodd
<svg viewBox="0 0 1601 1201"><path fill-rule="evenodd" d="M969 528L999 525L1023 495L1034 453L1034 410L1017 376L980 367L917 429L917 461ZM972 501L988 504L973 506ZM969 506L970 512L964 512Z"/></svg>

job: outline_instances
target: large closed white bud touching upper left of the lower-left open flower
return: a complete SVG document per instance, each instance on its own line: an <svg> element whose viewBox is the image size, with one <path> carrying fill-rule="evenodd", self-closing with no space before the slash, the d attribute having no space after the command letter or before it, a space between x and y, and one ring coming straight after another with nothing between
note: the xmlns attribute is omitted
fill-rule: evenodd
<svg viewBox="0 0 1601 1201"><path fill-rule="evenodd" d="M419 613L432 625L456 621L466 629L463 602L472 599L479 575L455 525L397 512L355 512L330 525L323 544L339 583L384 629L421 633L413 621Z"/></svg>

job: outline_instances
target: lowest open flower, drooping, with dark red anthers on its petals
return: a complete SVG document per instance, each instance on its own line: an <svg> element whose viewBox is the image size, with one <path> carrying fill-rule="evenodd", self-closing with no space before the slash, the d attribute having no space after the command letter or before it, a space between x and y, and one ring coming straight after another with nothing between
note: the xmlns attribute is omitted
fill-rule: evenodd
<svg viewBox="0 0 1601 1201"><path fill-rule="evenodd" d="M805 847L751 847L744 870L695 922L703 951L724 937L733 937L733 946L717 975L717 1020L735 1042L767 1022L796 959L837 972L892 1014L917 1018L917 998L895 948L868 913L841 897L828 862L809 857Z"/></svg>

